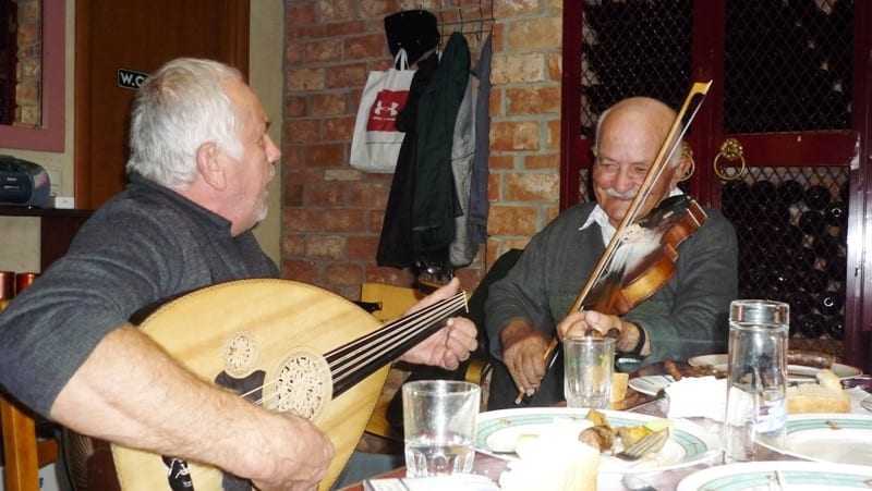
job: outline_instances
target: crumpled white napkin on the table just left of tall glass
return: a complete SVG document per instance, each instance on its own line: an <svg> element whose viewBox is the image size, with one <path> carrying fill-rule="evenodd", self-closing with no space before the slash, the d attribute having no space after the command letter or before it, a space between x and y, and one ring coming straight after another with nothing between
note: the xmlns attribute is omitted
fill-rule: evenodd
<svg viewBox="0 0 872 491"><path fill-rule="evenodd" d="M727 409L727 379L687 377L665 389L669 418L708 418L723 421Z"/></svg>

